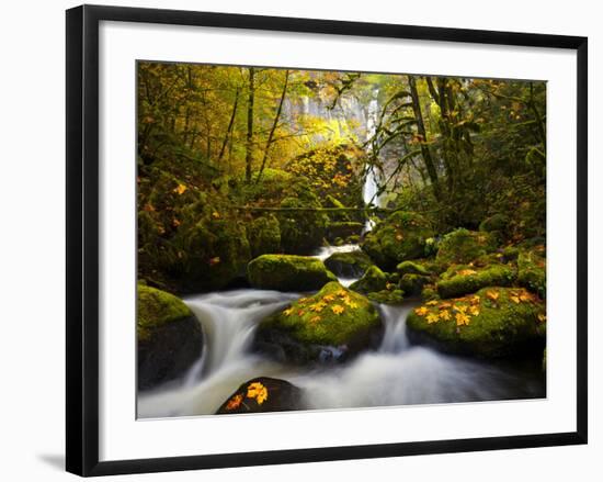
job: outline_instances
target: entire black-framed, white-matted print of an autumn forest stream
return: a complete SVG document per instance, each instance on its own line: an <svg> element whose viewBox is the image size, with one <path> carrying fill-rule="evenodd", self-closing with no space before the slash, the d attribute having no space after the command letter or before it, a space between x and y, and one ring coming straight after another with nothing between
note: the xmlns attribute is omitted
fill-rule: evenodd
<svg viewBox="0 0 603 482"><path fill-rule="evenodd" d="M587 89L584 37L69 10L67 469L585 444Z"/></svg>

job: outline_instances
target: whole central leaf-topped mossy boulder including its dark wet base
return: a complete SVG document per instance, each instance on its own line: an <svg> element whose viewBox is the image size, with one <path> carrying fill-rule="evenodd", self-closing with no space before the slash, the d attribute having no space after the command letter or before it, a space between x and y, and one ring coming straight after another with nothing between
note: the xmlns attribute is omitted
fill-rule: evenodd
<svg viewBox="0 0 603 482"><path fill-rule="evenodd" d="M375 306L335 281L262 321L254 346L281 361L340 362L377 346L382 334Z"/></svg>

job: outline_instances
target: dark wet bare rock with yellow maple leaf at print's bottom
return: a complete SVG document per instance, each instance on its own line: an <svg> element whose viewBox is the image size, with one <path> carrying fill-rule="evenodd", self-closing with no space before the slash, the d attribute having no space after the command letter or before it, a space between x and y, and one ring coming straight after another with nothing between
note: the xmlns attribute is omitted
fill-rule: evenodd
<svg viewBox="0 0 603 482"><path fill-rule="evenodd" d="M286 380L259 377L241 384L216 414L285 412L304 407L302 389Z"/></svg>

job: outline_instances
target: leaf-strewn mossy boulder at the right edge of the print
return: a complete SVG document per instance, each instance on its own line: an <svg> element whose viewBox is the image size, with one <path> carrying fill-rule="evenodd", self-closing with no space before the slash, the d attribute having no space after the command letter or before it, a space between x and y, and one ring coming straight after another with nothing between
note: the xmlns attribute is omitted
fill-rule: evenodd
<svg viewBox="0 0 603 482"><path fill-rule="evenodd" d="M413 310L407 326L411 339L451 352L482 358L542 355L546 306L523 288L485 288L476 294L432 301Z"/></svg>

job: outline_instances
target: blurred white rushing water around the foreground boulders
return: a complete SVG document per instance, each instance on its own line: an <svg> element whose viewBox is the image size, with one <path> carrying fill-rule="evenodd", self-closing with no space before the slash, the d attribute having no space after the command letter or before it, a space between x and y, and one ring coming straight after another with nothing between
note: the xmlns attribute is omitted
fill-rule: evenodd
<svg viewBox="0 0 603 482"><path fill-rule="evenodd" d="M380 305L380 346L345 365L289 367L251 352L259 322L298 296L243 289L185 300L203 326L204 355L182 380L143 393L139 417L213 414L241 383L259 375L300 386L316 410L544 396L536 367L497 366L412 345L406 330L412 303Z"/></svg>

